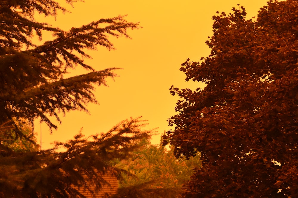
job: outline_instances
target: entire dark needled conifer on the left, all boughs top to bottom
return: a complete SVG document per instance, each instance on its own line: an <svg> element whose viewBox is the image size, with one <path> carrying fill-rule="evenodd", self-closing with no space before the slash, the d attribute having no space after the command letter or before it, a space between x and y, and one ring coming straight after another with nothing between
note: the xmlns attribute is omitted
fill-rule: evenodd
<svg viewBox="0 0 298 198"><path fill-rule="evenodd" d="M73 1L66 0L72 4ZM148 137L140 118L123 121L106 133L84 137L80 132L68 142L56 142L53 149L17 149L13 142L30 139L18 123L33 123L39 118L49 128L60 121L58 113L85 110L88 102L97 102L95 85L105 85L107 77L115 77L114 69L97 71L87 65L88 49L104 46L113 49L108 36L128 37L128 29L138 23L127 22L125 16L99 19L89 24L63 30L40 23L36 15L57 17L66 9L54 0L0 1L0 197L84 197L78 189L96 186L96 194L106 181L108 170L120 176L113 167L116 158L125 158ZM45 32L52 40L43 40ZM38 37L40 44L33 39ZM64 78L78 66L89 73ZM53 118L52 118L53 117ZM32 135L31 135L32 134ZM64 150L58 150L62 147ZM112 171L111 171L112 170Z"/></svg>

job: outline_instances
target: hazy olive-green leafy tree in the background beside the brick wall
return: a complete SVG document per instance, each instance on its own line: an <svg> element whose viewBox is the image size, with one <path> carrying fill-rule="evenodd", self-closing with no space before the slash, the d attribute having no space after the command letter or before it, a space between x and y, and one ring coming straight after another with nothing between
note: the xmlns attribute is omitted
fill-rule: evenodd
<svg viewBox="0 0 298 198"><path fill-rule="evenodd" d="M199 155L177 160L173 149L152 145L148 138L139 141L139 148L116 167L126 170L114 197L180 197L182 184L190 179L194 167L200 167Z"/></svg>

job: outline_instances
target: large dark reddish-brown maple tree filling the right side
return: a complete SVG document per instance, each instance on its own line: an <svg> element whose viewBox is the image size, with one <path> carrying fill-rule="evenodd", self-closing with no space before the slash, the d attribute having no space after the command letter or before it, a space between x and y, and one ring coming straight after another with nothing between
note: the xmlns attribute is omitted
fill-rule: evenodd
<svg viewBox="0 0 298 198"><path fill-rule="evenodd" d="M180 97L165 140L176 156L201 152L185 197L298 197L298 2L270 0L213 16L211 53L181 71L204 89ZM164 142L166 144L166 141Z"/></svg>

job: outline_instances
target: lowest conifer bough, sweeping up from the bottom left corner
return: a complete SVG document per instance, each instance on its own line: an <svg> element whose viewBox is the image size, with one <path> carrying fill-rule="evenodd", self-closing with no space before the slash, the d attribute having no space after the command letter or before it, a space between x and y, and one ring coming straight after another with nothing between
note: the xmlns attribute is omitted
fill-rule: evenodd
<svg viewBox="0 0 298 198"><path fill-rule="evenodd" d="M121 179L122 170L114 161L125 159L139 146L137 140L150 135L143 126L139 118L130 119L87 138L80 131L72 140L55 142L50 150L1 152L0 196L84 197L78 189L96 194L108 184L102 177L107 172Z"/></svg>

